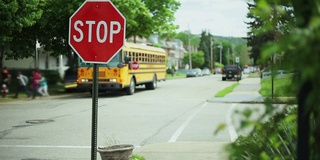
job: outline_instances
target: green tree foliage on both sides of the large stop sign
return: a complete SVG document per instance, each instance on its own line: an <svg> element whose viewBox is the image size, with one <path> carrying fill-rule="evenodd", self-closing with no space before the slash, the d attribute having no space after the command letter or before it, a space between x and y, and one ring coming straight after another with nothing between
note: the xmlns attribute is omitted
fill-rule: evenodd
<svg viewBox="0 0 320 160"><path fill-rule="evenodd" d="M33 56L36 40L53 56L70 53L69 18L83 2L83 0L1 0L1 62L4 54L7 54L9 59ZM168 36L177 29L173 24L174 13L180 3L176 0L112 2L126 17L126 38L149 37L152 33ZM9 44L11 50L8 50Z"/></svg>

